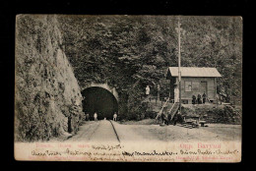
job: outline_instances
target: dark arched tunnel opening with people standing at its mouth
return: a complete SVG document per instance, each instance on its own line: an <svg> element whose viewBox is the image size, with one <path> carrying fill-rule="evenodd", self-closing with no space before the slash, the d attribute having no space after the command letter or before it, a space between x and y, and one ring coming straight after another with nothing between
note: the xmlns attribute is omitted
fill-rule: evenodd
<svg viewBox="0 0 256 171"><path fill-rule="evenodd" d="M118 103L115 96L107 89L91 86L82 91L84 96L83 111L90 114L90 120L97 113L97 119L112 119L114 112L118 112Z"/></svg>

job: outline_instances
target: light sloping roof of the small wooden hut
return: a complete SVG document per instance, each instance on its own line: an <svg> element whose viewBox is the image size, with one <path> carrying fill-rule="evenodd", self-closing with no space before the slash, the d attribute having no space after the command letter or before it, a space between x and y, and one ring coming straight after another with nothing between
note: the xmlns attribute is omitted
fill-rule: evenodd
<svg viewBox="0 0 256 171"><path fill-rule="evenodd" d="M220 78L222 75L216 68L180 67L181 77ZM167 78L178 77L178 67L169 67Z"/></svg>

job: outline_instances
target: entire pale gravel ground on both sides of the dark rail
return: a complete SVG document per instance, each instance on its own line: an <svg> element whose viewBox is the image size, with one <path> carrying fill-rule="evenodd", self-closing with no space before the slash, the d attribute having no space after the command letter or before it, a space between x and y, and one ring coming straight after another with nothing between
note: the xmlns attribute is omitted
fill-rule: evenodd
<svg viewBox="0 0 256 171"><path fill-rule="evenodd" d="M129 121L129 125L113 122L120 142L225 142L241 141L240 125L208 124L208 127L185 128L181 125L146 125L152 121ZM138 124L138 123L141 123ZM108 121L84 122L77 135L66 142L117 142Z"/></svg>

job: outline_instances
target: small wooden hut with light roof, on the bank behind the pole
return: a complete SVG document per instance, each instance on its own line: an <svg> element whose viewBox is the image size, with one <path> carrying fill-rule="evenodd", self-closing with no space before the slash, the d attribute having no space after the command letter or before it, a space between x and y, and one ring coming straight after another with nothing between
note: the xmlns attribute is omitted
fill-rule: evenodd
<svg viewBox="0 0 256 171"><path fill-rule="evenodd" d="M191 104L192 95L197 97L205 92L211 102L217 97L217 78L222 77L216 68L180 67L181 101ZM166 79L170 81L170 99L175 99L179 93L178 67L169 67Z"/></svg>

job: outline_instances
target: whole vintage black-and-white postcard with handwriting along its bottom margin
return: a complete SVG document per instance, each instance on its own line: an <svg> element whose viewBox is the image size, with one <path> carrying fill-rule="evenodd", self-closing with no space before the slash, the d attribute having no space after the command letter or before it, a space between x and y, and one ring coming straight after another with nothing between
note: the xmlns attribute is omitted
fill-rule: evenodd
<svg viewBox="0 0 256 171"><path fill-rule="evenodd" d="M242 18L18 15L15 158L239 162Z"/></svg>

